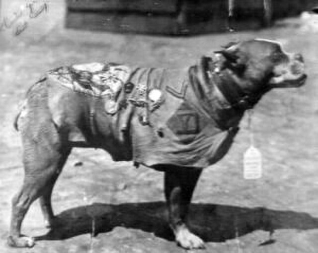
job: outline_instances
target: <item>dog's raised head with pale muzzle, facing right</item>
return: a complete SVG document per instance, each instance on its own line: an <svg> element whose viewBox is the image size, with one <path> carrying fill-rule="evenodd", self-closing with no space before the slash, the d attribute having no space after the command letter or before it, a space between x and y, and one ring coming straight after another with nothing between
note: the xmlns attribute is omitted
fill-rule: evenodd
<svg viewBox="0 0 318 253"><path fill-rule="evenodd" d="M224 57L224 67L240 80L248 80L241 82L243 89L299 87L307 78L302 55L286 53L275 41L254 39L230 43L215 53Z"/></svg>

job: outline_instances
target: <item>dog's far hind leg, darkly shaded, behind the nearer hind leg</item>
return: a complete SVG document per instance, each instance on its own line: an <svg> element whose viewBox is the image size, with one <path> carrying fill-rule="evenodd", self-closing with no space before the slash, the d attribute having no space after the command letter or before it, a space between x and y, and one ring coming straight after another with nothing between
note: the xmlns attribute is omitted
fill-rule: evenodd
<svg viewBox="0 0 318 253"><path fill-rule="evenodd" d="M59 225L58 220L54 216L52 210L51 195L55 182L62 171L62 168L70 154L70 151L71 150L66 150L61 154L59 163L57 163L56 173L54 174L54 176L52 176L50 182L48 182L47 186L45 187L45 190L43 191L42 195L39 197L42 213L44 216L44 223L47 228L54 228Z"/></svg>

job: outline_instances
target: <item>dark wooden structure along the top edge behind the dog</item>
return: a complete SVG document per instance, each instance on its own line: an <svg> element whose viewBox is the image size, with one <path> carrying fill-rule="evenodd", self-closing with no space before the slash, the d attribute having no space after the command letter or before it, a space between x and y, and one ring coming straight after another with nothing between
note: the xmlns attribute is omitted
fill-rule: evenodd
<svg viewBox="0 0 318 253"><path fill-rule="evenodd" d="M255 29L269 26L273 18L284 16L300 1L67 0L66 27L165 35L223 32L230 27Z"/></svg>

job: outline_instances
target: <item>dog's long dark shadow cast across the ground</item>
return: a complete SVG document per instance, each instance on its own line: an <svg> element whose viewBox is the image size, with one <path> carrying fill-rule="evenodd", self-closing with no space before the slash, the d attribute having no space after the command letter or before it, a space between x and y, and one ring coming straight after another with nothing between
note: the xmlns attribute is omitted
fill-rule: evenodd
<svg viewBox="0 0 318 253"><path fill-rule="evenodd" d="M61 240L91 233L92 224L95 235L121 226L173 240L164 202L119 205L93 203L63 211L58 215L58 221L59 226L36 240ZM276 229L318 228L318 218L303 212L212 204L192 204L189 221L192 231L206 242L224 242L255 230L273 233ZM272 242L269 240L264 244Z"/></svg>

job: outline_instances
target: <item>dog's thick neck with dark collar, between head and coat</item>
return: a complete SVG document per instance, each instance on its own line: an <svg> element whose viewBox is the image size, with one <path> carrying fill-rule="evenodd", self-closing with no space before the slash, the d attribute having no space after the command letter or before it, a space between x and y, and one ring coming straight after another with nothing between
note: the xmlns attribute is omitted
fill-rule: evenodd
<svg viewBox="0 0 318 253"><path fill-rule="evenodd" d="M251 109L266 91L248 92L247 83L231 70L222 69L222 63L203 57L190 68L190 78L196 96L210 111L211 117L222 129L239 125L244 111Z"/></svg>

